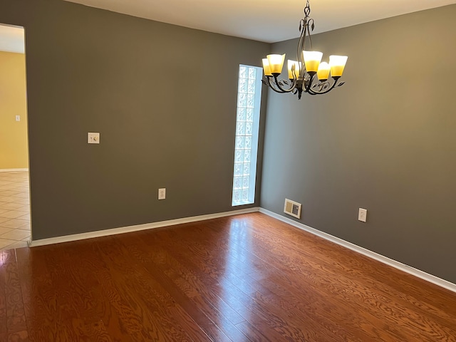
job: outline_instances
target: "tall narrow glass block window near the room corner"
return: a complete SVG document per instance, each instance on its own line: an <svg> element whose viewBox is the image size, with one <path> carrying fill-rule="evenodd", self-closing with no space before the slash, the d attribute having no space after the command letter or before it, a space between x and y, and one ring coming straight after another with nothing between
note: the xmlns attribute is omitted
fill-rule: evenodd
<svg viewBox="0 0 456 342"><path fill-rule="evenodd" d="M232 205L255 201L262 68L239 66Z"/></svg>

